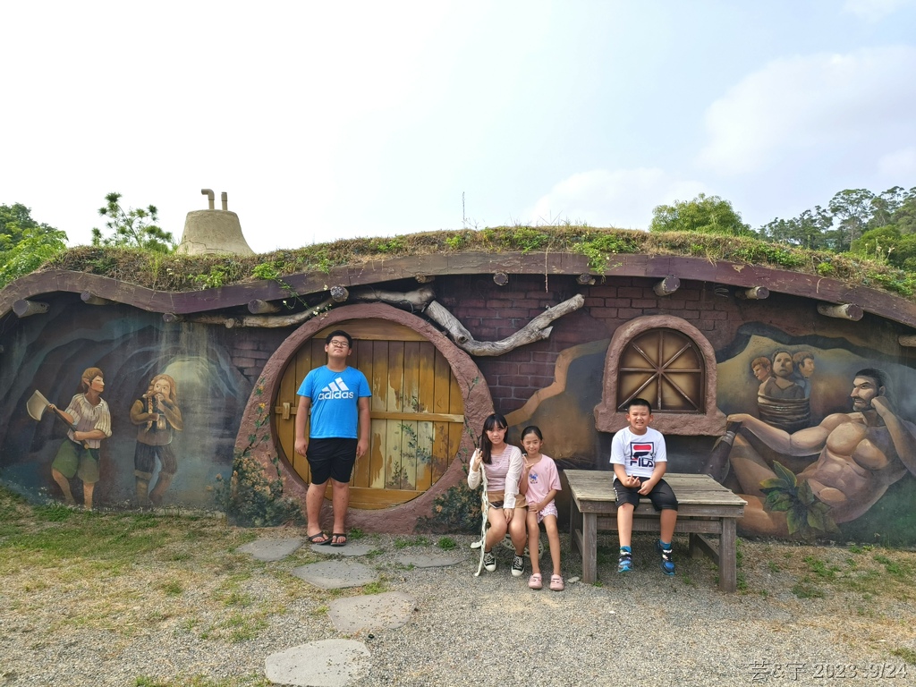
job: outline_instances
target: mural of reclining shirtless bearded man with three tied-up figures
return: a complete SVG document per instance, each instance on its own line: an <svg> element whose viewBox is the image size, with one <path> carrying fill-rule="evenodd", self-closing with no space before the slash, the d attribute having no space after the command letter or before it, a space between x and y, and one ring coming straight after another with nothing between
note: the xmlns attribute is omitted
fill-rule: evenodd
<svg viewBox="0 0 916 687"><path fill-rule="evenodd" d="M747 500L746 534L861 538L867 529L845 523L866 516L889 487L913 486L916 404L895 393L912 387L913 371L839 344L754 336L742 354L719 364L720 379L740 380L743 368L753 382L720 385L728 425L703 470ZM766 361L770 376L761 382ZM911 500L898 492L889 506L907 517ZM867 539L900 542L910 531L885 520Z"/></svg>

